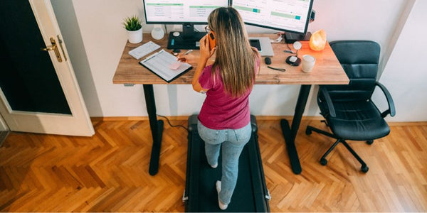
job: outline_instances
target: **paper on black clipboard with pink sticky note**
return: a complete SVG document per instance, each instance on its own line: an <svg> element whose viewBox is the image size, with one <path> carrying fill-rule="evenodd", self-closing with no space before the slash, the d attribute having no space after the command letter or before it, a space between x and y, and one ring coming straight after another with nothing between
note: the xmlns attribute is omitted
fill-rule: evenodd
<svg viewBox="0 0 427 213"><path fill-rule="evenodd" d="M192 68L188 63L177 61L176 56L165 50L160 50L139 63L168 83Z"/></svg>

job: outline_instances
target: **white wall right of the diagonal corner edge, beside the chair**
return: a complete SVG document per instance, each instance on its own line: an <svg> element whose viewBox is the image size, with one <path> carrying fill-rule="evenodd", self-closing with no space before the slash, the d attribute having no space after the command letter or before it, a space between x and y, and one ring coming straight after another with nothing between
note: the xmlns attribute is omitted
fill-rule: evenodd
<svg viewBox="0 0 427 213"><path fill-rule="evenodd" d="M389 121L427 120L427 1L412 1L408 9L401 31L396 32L396 42L390 44L394 45L393 50L380 80L389 89L396 107L396 116ZM381 98L376 93L374 101Z"/></svg>

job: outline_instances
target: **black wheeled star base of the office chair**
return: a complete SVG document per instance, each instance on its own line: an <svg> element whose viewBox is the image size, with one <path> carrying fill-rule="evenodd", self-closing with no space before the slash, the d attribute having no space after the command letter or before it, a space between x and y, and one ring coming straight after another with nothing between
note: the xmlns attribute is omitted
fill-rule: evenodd
<svg viewBox="0 0 427 213"><path fill-rule="evenodd" d="M317 129L315 127L312 126L307 126L307 129L305 129L305 133L307 135L310 135L312 133L312 131L315 131L317 133L321 133L322 135L325 136L329 136L331 138L335 138L337 139L337 141L335 141L334 144L332 144L332 146L326 151L326 153L322 156L322 158L320 158L320 164L322 165L327 165L327 160L326 160L326 156L329 155L329 153L335 148L335 146L338 145L338 143L342 143L345 148L347 148L347 150L352 153L352 155L354 156L354 158L357 159L357 161L359 161L360 164L362 164L362 167L360 168L360 170L362 170L363 173L367 173L369 170L369 167L367 166L366 163L364 163L364 161L362 160L362 158L359 157L359 155L357 155L357 153L353 150L353 148L351 146L349 146L349 144L343 139L343 138L339 138L338 136L329 133L327 131L323 131L320 129ZM368 144L372 144L374 141L367 141Z"/></svg>

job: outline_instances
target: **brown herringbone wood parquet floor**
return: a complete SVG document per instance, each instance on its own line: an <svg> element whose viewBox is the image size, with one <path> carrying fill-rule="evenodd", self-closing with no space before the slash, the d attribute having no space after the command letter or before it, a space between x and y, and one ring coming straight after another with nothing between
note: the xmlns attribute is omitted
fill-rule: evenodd
<svg viewBox="0 0 427 213"><path fill-rule="evenodd" d="M0 148L3 212L183 212L186 130L165 124L159 173L148 174L148 121L94 121L91 138L10 133ZM173 121L186 126L186 121ZM279 121L258 120L258 136L272 212L426 212L427 125L391 126L369 146L350 146L369 165L337 146L326 166L320 156L333 140L302 121L294 175ZM216 202L216 201L213 201Z"/></svg>

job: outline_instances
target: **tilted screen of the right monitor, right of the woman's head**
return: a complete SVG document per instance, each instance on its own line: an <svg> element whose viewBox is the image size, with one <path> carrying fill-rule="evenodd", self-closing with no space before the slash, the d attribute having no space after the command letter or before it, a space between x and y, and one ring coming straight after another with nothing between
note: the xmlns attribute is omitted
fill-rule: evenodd
<svg viewBox="0 0 427 213"><path fill-rule="evenodd" d="M253 26L307 33L313 0L233 0L231 6Z"/></svg>

